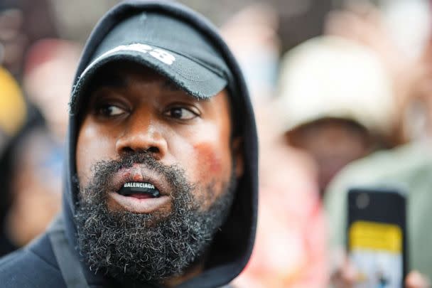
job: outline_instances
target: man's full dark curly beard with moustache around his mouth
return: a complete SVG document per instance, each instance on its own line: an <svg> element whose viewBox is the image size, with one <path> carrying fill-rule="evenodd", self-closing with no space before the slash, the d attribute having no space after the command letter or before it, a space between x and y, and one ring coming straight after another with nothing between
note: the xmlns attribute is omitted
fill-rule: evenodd
<svg viewBox="0 0 432 288"><path fill-rule="evenodd" d="M171 186L173 210L135 214L107 207L109 179L121 168L143 164L165 177ZM202 203L212 199L215 183L200 187L185 178L176 166L163 166L148 154L131 154L121 161L101 161L87 187L80 190L75 223L80 254L90 270L124 281L162 282L181 275L202 261L213 236L225 222L234 198L234 169L222 183L222 194L208 210ZM201 191L194 196L194 191Z"/></svg>

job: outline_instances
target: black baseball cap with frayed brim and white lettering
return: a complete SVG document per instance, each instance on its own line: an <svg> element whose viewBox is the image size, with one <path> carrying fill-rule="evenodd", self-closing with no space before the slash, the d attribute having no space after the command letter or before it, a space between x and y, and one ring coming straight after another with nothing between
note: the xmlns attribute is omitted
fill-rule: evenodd
<svg viewBox="0 0 432 288"><path fill-rule="evenodd" d="M72 94L79 95L99 69L119 60L152 68L198 98L216 95L231 75L220 52L198 28L175 16L141 12L107 33Z"/></svg>

